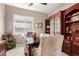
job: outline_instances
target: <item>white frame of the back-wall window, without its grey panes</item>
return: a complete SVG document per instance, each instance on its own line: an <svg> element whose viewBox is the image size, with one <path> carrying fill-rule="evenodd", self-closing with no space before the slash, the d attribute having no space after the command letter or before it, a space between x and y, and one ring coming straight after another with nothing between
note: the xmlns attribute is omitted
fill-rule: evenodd
<svg viewBox="0 0 79 59"><path fill-rule="evenodd" d="M19 22L16 23L16 21L23 21L24 23L23 24L19 24ZM32 24L26 24L27 21L28 22L32 22ZM18 26L18 24L20 26ZM28 25L28 26L26 26L26 25ZM18 27L24 28L24 32L16 32L15 26L17 28ZM29 26L32 26L32 31L26 31L26 28L29 27ZM31 27L29 27L29 28L31 28ZM34 31L34 19L33 19L33 17L23 16L23 15L16 15L16 14L13 15L13 34L14 35L25 34L27 32L33 32L33 31Z"/></svg>

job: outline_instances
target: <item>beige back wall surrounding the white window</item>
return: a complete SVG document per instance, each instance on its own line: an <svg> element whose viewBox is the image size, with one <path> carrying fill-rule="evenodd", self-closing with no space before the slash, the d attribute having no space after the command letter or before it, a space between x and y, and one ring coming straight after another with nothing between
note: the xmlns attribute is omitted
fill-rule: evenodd
<svg viewBox="0 0 79 59"><path fill-rule="evenodd" d="M6 5L6 17L5 17L5 31L6 33L12 33L13 32L13 15L24 15L24 16L32 16L34 17L34 23L43 23L43 29L40 28L34 28L37 34L39 35L41 32L44 32L44 26L45 26L45 18L47 17L47 14L34 12L26 9L20 9L17 7L11 7ZM21 43L23 39L19 39L20 36L17 36L17 43Z"/></svg>

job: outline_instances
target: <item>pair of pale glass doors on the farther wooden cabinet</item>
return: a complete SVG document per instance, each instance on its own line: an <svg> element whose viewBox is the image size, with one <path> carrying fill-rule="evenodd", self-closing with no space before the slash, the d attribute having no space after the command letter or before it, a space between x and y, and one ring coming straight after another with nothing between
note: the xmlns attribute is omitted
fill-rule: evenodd
<svg viewBox="0 0 79 59"><path fill-rule="evenodd" d="M60 34L60 18L55 17L50 21L50 34L58 35Z"/></svg>

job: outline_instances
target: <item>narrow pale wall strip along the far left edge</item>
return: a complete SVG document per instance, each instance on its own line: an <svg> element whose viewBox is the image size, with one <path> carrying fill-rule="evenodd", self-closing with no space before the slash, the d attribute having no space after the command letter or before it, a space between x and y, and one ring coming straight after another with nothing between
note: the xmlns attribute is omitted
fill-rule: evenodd
<svg viewBox="0 0 79 59"><path fill-rule="evenodd" d="M4 34L4 13L5 13L5 5L0 4L0 39Z"/></svg>

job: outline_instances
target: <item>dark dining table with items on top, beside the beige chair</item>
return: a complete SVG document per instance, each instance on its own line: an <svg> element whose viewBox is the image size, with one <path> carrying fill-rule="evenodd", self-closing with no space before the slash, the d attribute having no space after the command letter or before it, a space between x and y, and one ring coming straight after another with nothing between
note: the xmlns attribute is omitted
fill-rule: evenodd
<svg viewBox="0 0 79 59"><path fill-rule="evenodd" d="M27 38L28 42L27 42L27 45L28 45L28 55L29 56L33 56L32 54L32 50L34 48L38 48L39 46L39 43L40 43L40 38L39 37L36 37L36 38ZM27 48L27 46L25 46L25 48Z"/></svg>

